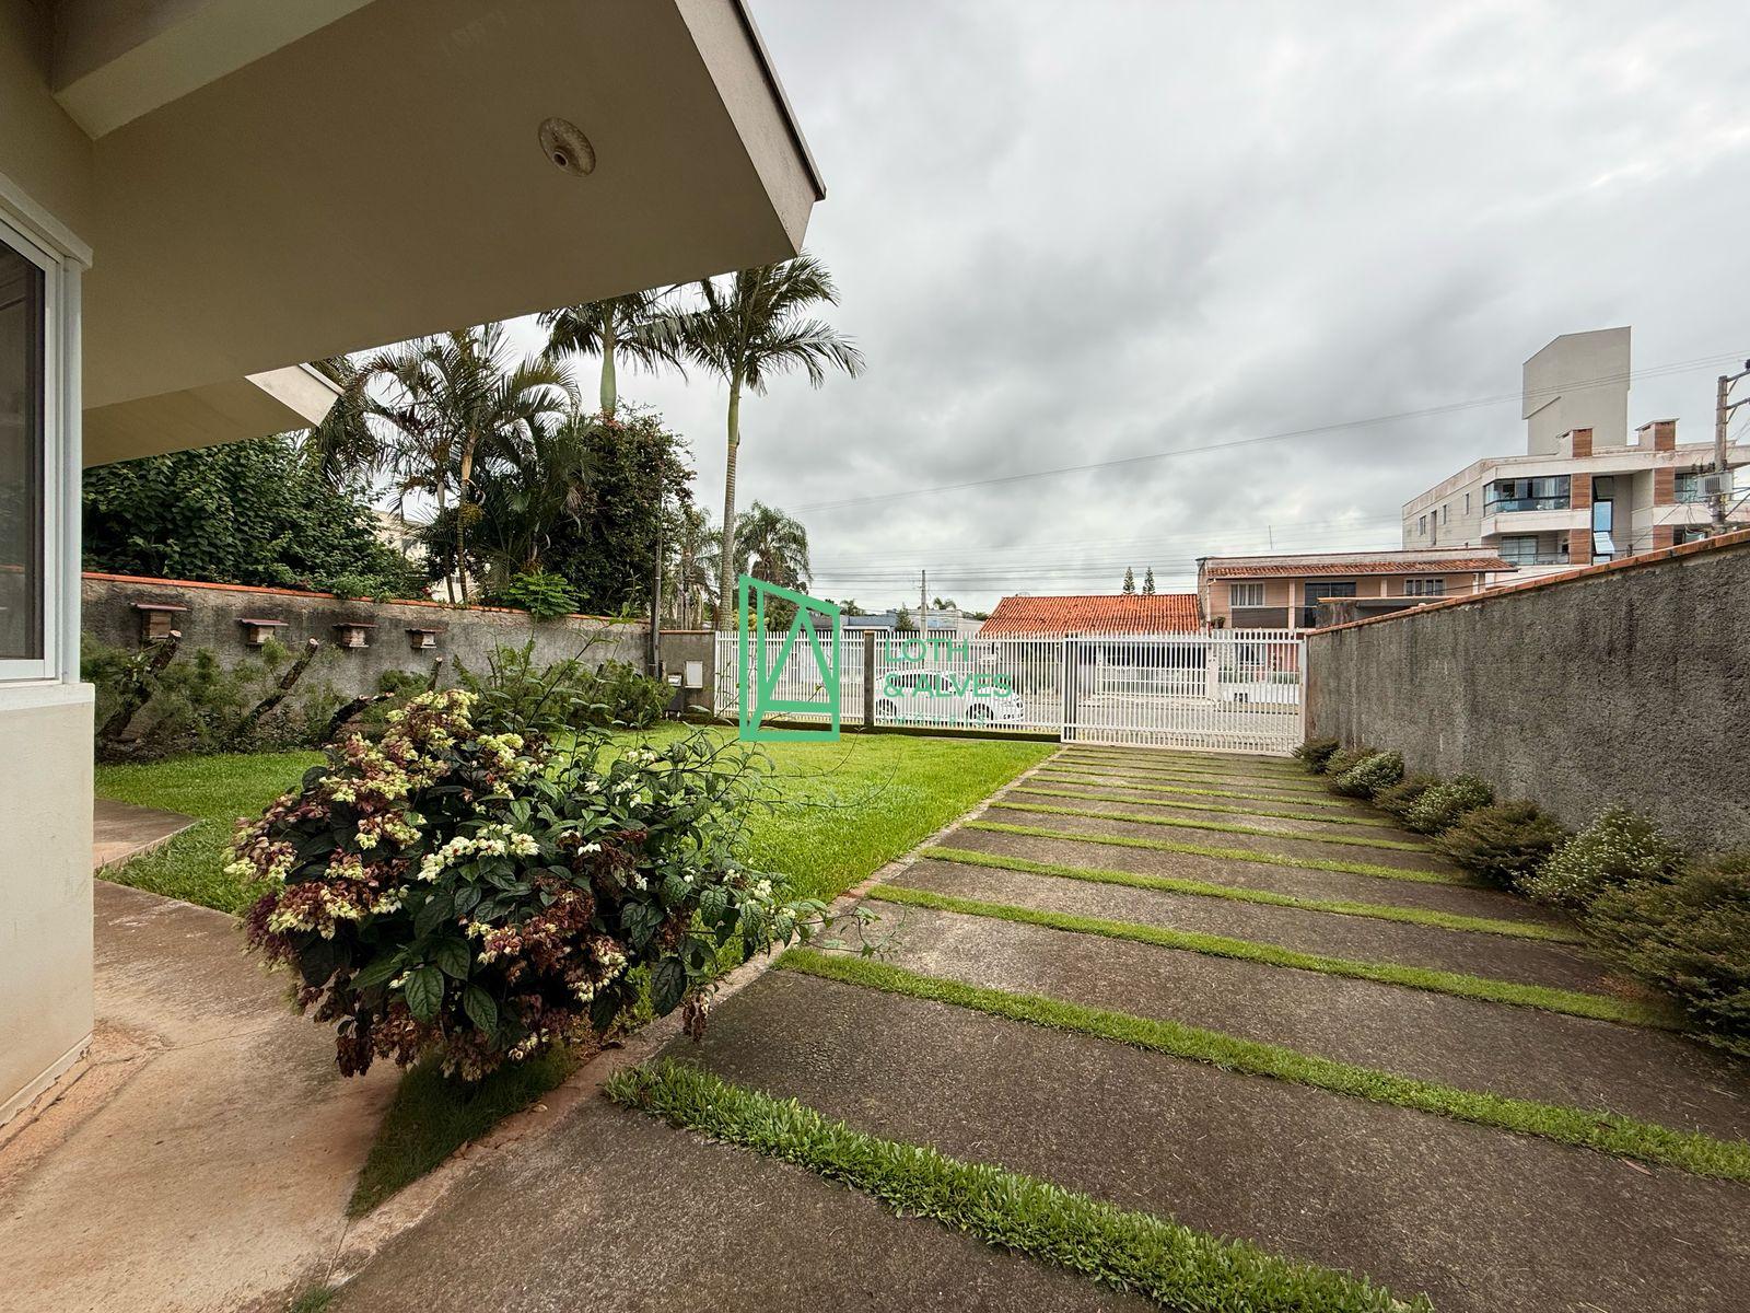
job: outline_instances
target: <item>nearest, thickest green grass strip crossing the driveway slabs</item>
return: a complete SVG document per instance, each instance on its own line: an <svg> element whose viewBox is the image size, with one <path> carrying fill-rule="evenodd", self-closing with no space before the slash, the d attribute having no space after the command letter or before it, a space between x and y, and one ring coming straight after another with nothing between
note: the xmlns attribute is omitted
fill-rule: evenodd
<svg viewBox="0 0 1750 1313"><path fill-rule="evenodd" d="M1430 1313L1426 1297L1281 1259L1155 1213L928 1145L858 1131L796 1099L777 1099L674 1061L609 1077L607 1098L684 1131L793 1162L873 1196L900 1217L928 1217L999 1250L1068 1267L1113 1290L1146 1295L1176 1313Z"/></svg>

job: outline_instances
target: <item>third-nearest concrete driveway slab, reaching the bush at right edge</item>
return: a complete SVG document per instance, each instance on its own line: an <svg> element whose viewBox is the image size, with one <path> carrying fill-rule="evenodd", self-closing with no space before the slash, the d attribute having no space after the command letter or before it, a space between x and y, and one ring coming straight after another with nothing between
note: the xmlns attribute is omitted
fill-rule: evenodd
<svg viewBox="0 0 1750 1313"><path fill-rule="evenodd" d="M1181 1021L1320 1057L1750 1138L1741 1064L1645 1026L1209 958L920 907L884 961L1010 993Z"/></svg>

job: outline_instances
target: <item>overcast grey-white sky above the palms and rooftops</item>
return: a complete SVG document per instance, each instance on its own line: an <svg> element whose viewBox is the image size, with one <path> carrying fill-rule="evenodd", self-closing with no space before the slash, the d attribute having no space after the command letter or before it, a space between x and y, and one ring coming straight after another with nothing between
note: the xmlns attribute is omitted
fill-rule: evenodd
<svg viewBox="0 0 1750 1313"><path fill-rule="evenodd" d="M989 607L1398 546L1404 501L1524 448L1519 366L1556 334L1633 324L1636 371L1701 361L1629 394L1680 441L1712 439L1720 357L1750 352L1738 5L752 7L868 355L742 408L740 504L807 523L816 593L915 600L922 565ZM721 509L723 385L621 396L688 436Z"/></svg>

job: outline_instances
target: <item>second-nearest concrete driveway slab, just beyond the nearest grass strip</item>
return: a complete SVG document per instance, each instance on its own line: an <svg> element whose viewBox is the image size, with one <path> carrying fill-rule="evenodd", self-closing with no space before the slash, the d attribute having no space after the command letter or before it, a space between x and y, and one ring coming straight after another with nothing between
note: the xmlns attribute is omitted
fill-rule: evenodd
<svg viewBox="0 0 1750 1313"><path fill-rule="evenodd" d="M1740 1185L945 1005L777 972L674 1052L1442 1313L1736 1313L1750 1281Z"/></svg>

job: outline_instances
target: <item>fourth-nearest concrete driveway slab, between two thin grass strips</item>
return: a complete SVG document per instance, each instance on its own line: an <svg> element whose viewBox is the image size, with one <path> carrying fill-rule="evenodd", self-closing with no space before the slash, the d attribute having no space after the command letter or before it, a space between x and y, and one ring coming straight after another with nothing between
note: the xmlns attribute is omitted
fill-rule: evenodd
<svg viewBox="0 0 1750 1313"><path fill-rule="evenodd" d="M1052 875L970 867L956 861L924 860L892 882L962 898L987 898L1052 912L1104 916L1172 930L1232 935L1260 944L1281 944L1304 952L1472 972L1558 989L1610 993L1615 986L1615 980L1596 961L1572 945L1508 940L1470 930L1440 930L1358 916L1304 912L1295 907L1260 907L1227 898L1200 898L1155 889L1102 888L1054 879Z"/></svg>

